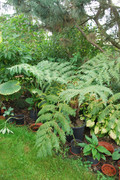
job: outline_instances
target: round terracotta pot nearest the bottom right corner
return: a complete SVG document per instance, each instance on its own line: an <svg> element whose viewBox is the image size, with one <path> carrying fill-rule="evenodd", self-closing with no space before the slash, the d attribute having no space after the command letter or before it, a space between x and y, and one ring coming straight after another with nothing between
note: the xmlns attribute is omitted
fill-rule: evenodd
<svg viewBox="0 0 120 180"><path fill-rule="evenodd" d="M102 172L107 176L114 176L116 174L116 169L110 164L104 164L101 167Z"/></svg>

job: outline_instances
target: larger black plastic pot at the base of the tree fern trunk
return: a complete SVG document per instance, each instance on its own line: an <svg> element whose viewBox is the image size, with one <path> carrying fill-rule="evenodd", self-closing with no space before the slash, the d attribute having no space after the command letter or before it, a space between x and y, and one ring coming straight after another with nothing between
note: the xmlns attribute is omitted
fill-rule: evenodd
<svg viewBox="0 0 120 180"><path fill-rule="evenodd" d="M84 131L85 131L85 123L81 127L73 127L73 134L75 139L80 139L83 141L84 139Z"/></svg>

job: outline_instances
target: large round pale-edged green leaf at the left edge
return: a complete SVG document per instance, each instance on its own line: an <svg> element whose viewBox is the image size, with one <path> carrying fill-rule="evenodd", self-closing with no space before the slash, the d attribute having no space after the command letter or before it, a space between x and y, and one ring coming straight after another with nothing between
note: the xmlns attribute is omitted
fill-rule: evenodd
<svg viewBox="0 0 120 180"><path fill-rule="evenodd" d="M3 84L0 84L0 94L1 95L11 95L18 92L21 89L19 81L10 80Z"/></svg>

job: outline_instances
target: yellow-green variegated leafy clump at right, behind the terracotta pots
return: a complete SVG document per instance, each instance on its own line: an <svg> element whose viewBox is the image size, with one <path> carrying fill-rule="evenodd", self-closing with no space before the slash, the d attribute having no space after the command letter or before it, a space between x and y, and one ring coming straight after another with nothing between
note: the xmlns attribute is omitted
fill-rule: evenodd
<svg viewBox="0 0 120 180"><path fill-rule="evenodd" d="M102 100L93 100L88 105L86 126L98 135L108 134L120 145L120 93L111 96L106 106Z"/></svg>

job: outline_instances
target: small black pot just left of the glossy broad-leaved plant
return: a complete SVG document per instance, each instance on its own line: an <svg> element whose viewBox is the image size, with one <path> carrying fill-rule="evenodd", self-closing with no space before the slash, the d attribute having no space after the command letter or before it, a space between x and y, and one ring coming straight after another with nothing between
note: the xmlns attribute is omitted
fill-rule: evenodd
<svg viewBox="0 0 120 180"><path fill-rule="evenodd" d="M78 143L82 143L81 140L79 139L73 139L71 141L71 149L70 149L70 152L73 154L73 155L79 155L81 153L81 150L82 150L82 147L80 147L78 145Z"/></svg>

